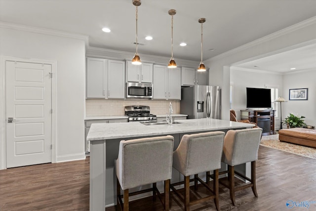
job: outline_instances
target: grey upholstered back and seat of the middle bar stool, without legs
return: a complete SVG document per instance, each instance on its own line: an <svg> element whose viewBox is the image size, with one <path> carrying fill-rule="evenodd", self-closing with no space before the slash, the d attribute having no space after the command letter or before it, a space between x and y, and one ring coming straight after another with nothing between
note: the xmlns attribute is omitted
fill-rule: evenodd
<svg viewBox="0 0 316 211"><path fill-rule="evenodd" d="M204 132L184 135L173 159L173 166L185 175L221 168L225 132Z"/></svg>

